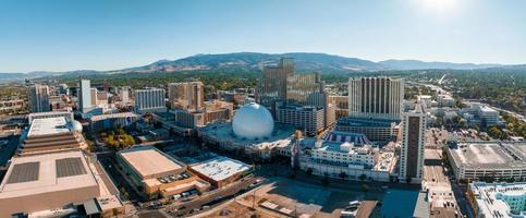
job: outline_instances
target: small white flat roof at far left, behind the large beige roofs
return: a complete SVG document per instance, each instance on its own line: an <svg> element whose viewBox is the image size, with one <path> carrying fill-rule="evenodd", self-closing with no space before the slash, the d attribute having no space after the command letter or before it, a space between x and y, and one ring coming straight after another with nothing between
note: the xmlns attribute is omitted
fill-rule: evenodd
<svg viewBox="0 0 526 218"><path fill-rule="evenodd" d="M64 117L40 118L33 120L27 136L30 137L69 132L71 132L71 130Z"/></svg>

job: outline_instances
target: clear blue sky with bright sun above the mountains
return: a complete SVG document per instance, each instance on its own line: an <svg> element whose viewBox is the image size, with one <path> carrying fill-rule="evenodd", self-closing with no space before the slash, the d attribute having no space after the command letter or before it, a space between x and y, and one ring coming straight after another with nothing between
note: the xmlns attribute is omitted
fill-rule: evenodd
<svg viewBox="0 0 526 218"><path fill-rule="evenodd" d="M0 72L197 53L526 63L523 0L0 0Z"/></svg>

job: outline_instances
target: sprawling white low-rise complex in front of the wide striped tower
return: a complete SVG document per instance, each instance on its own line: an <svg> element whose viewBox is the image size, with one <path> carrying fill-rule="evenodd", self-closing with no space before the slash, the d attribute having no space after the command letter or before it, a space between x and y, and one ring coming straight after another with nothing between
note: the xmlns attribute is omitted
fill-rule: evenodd
<svg viewBox="0 0 526 218"><path fill-rule="evenodd" d="M332 131L315 143L310 155L299 156L299 168L318 175L390 182L396 160L393 152L372 146L364 134Z"/></svg>

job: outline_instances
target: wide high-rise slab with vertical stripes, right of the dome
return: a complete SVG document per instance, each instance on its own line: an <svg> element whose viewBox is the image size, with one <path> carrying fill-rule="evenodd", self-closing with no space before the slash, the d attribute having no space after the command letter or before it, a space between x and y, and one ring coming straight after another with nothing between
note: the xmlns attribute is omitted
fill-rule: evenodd
<svg viewBox="0 0 526 218"><path fill-rule="evenodd" d="M403 80L390 77L348 80L350 117L400 120L403 99Z"/></svg>

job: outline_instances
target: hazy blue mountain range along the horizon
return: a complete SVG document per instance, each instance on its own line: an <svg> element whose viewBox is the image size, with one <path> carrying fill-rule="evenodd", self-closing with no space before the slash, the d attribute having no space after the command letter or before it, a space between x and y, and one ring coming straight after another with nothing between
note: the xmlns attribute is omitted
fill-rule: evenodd
<svg viewBox="0 0 526 218"><path fill-rule="evenodd" d="M425 69L453 69L474 70L487 68L524 68L524 65L503 64L475 64L451 62L425 62L418 60L387 60L374 62L357 58L346 58L327 53L291 52L291 53L258 53L235 52L221 55L196 55L178 60L159 60L154 63L112 71L76 70L68 72L35 71L28 73L1 73L0 80L35 78L64 73L93 74L93 73L126 73L126 72L178 72L217 69L261 69L265 64L273 64L282 57L295 59L299 72L321 71L325 73L347 73L356 71L382 70L425 70Z"/></svg>

